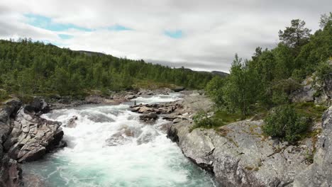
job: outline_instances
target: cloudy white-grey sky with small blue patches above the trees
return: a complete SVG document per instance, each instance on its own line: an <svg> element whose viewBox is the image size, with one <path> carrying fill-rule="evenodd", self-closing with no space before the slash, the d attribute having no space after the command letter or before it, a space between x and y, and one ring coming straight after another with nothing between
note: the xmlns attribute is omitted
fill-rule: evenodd
<svg viewBox="0 0 332 187"><path fill-rule="evenodd" d="M228 72L294 18L319 29L331 0L1 0L0 39L32 38L170 67Z"/></svg>

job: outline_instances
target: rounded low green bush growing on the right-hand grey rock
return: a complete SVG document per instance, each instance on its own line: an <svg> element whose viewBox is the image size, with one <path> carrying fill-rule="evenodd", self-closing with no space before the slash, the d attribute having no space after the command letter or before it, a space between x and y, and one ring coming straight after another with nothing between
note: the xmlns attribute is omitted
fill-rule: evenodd
<svg viewBox="0 0 332 187"><path fill-rule="evenodd" d="M296 142L309 129L309 118L301 117L292 106L278 106L265 118L262 130L272 137Z"/></svg>

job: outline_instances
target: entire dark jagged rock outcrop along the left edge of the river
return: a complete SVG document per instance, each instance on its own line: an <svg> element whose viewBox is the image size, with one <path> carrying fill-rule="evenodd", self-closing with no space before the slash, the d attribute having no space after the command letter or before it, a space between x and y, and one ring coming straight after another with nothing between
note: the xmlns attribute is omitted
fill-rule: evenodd
<svg viewBox="0 0 332 187"><path fill-rule="evenodd" d="M19 162L40 159L55 149L62 139L60 123L40 118L50 110L35 97L23 106L17 98L0 108L0 186L23 186Z"/></svg>

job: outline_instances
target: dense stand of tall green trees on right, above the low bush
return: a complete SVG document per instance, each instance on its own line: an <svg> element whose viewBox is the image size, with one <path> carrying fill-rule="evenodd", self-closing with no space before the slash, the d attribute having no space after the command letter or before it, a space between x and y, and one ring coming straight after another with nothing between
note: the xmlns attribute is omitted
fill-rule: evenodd
<svg viewBox="0 0 332 187"><path fill-rule="evenodd" d="M245 118L259 108L267 111L289 104L299 83L315 71L323 84L332 76L332 67L326 62L332 57L331 13L323 16L321 23L322 29L311 35L304 21L293 20L292 26L280 31L280 43L274 49L257 47L252 59L244 63L236 55L231 74L222 83L209 82L207 94L218 109Z"/></svg>

